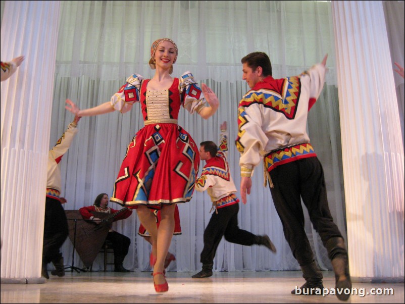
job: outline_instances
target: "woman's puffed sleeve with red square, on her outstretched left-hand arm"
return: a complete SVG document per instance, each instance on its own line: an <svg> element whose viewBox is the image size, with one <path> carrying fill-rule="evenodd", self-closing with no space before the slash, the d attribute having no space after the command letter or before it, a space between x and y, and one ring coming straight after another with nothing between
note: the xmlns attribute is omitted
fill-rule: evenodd
<svg viewBox="0 0 405 304"><path fill-rule="evenodd" d="M114 110L125 113L131 110L135 102L139 102L142 81L141 75L133 74L128 77L120 90L111 97L111 106Z"/></svg>

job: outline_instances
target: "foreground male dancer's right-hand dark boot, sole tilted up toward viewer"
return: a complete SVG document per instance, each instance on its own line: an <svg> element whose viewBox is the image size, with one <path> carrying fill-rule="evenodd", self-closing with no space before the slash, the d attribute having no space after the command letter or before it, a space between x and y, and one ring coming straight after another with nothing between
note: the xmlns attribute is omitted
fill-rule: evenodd
<svg viewBox="0 0 405 304"><path fill-rule="evenodd" d="M326 242L328 256L335 272L336 296L339 300L345 301L350 297L351 280L349 273L349 263L344 240L341 237L332 237ZM350 292L343 292L349 290Z"/></svg>

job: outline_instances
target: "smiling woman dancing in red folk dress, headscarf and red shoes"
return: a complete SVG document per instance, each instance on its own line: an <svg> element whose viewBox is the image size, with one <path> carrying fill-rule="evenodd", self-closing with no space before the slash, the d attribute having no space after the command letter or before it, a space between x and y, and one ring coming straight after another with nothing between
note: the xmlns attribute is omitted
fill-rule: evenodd
<svg viewBox="0 0 405 304"><path fill-rule="evenodd" d="M180 106L204 119L219 107L215 93L205 84L201 91L190 72L180 78L170 76L177 55L171 39L158 39L150 48L149 66L156 69L152 79L133 74L110 102L86 110L66 100L66 109L79 117L115 110L125 113L135 102L141 104L145 126L128 146L110 200L137 209L140 222L149 231L157 292L169 289L163 270L174 231L175 204L191 199L199 165L198 146L177 124ZM149 209L161 210L159 228Z"/></svg>

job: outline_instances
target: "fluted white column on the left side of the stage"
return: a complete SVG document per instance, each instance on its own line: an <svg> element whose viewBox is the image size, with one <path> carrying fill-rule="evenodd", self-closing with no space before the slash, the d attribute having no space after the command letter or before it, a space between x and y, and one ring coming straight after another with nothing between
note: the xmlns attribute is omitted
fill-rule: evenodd
<svg viewBox="0 0 405 304"><path fill-rule="evenodd" d="M14 1L6 11L2 57L25 55L25 61L1 83L0 272L2 283L43 283L44 189L60 2Z"/></svg>

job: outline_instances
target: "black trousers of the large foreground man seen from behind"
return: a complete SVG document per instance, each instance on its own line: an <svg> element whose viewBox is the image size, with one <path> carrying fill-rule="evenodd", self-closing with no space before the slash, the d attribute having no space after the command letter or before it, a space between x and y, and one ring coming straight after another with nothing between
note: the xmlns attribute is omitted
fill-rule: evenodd
<svg viewBox="0 0 405 304"><path fill-rule="evenodd" d="M300 266L311 264L314 255L304 229L301 197L324 246L331 237L342 237L329 211L322 165L316 157L301 159L276 167L270 176L274 184L270 191L285 239Z"/></svg>

